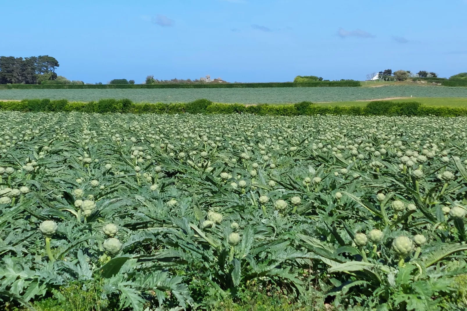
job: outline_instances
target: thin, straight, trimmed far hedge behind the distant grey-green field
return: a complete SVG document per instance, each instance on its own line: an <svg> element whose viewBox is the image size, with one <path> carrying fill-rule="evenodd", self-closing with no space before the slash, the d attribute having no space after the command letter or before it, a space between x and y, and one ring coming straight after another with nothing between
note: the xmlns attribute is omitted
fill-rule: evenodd
<svg viewBox="0 0 467 311"><path fill-rule="evenodd" d="M5 84L0 89L203 89L203 88L259 88L259 87L337 87L361 86L360 81L322 81L310 83L277 82L277 83L206 83L206 84L85 84L85 85L33 85Z"/></svg>

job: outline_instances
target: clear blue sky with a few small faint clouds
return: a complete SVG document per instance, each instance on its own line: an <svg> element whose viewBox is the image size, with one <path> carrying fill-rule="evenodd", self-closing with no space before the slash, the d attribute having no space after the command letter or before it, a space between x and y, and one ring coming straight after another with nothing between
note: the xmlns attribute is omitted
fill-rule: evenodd
<svg viewBox="0 0 467 311"><path fill-rule="evenodd" d="M467 71L467 0L4 1L0 55L50 55L86 83L365 79Z"/></svg>

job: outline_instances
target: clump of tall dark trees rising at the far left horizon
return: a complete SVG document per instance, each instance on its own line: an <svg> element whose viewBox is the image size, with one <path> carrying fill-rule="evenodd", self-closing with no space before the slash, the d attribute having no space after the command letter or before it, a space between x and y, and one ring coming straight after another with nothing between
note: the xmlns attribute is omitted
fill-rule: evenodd
<svg viewBox="0 0 467 311"><path fill-rule="evenodd" d="M0 56L0 84L41 84L42 81L56 80L55 69L59 67L54 57Z"/></svg>

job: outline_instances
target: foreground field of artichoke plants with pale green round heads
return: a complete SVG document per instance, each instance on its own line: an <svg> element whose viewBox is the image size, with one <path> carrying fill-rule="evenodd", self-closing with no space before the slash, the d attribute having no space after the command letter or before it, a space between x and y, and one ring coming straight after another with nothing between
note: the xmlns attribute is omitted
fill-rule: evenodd
<svg viewBox="0 0 467 311"><path fill-rule="evenodd" d="M1 304L466 306L467 118L0 118Z"/></svg>

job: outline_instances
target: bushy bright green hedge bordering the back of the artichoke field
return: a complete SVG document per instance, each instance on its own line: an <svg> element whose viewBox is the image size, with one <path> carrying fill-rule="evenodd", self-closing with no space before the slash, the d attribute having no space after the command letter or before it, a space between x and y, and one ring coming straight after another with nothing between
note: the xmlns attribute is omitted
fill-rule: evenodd
<svg viewBox="0 0 467 311"><path fill-rule="evenodd" d="M213 103L208 99L197 99L189 103L133 103L130 99L101 99L99 101L69 102L66 99L24 99L0 102L0 110L22 112L85 112L85 113L253 113L258 115L387 115L442 117L467 116L467 108L424 106L418 102L371 101L366 106L320 106L308 101L290 105L241 105Z"/></svg>

